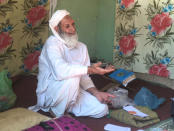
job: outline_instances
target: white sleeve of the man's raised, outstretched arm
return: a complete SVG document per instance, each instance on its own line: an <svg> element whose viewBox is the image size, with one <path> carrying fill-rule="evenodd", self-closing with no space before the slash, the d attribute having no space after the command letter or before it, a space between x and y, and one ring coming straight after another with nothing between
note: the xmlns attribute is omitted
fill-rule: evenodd
<svg viewBox="0 0 174 131"><path fill-rule="evenodd" d="M57 44L54 43L54 41L48 43L45 48L45 58L48 61L48 66L54 79L64 80L87 74L88 67L86 65L81 63L71 63L68 61L63 46L57 46Z"/></svg>

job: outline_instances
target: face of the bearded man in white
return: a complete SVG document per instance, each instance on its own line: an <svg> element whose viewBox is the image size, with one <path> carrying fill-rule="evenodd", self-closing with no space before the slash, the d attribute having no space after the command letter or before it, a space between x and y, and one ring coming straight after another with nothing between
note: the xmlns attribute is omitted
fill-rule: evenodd
<svg viewBox="0 0 174 131"><path fill-rule="evenodd" d="M65 33L68 35L75 35L76 34L76 28L75 28L75 22L74 20L69 16L65 16L58 27L59 32Z"/></svg>

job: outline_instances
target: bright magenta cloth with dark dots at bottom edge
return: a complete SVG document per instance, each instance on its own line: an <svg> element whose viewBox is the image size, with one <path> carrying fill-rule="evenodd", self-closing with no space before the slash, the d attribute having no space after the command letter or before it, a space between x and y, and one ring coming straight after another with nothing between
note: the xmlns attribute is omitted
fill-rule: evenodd
<svg viewBox="0 0 174 131"><path fill-rule="evenodd" d="M86 125L79 121L62 116L60 118L51 119L48 121L41 122L40 124L31 128L25 129L24 131L92 131Z"/></svg>

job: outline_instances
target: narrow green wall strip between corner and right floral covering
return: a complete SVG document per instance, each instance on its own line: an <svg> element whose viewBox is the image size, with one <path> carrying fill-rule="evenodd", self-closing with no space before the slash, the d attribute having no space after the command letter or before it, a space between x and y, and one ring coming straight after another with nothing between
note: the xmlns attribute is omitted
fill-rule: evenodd
<svg viewBox="0 0 174 131"><path fill-rule="evenodd" d="M100 0L97 20L96 56L112 62L115 0Z"/></svg>

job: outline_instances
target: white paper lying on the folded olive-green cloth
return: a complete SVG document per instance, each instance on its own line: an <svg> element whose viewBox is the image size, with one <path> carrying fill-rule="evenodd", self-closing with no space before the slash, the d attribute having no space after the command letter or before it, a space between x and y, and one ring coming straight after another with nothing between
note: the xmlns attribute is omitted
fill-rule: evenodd
<svg viewBox="0 0 174 131"><path fill-rule="evenodd" d="M136 115L136 116L140 116L140 117L147 117L147 116L149 116L149 115L139 111L138 109L136 109L133 106L125 106L125 107L123 107L123 109L126 110L127 112L134 112L134 113L132 113L132 115Z"/></svg>

